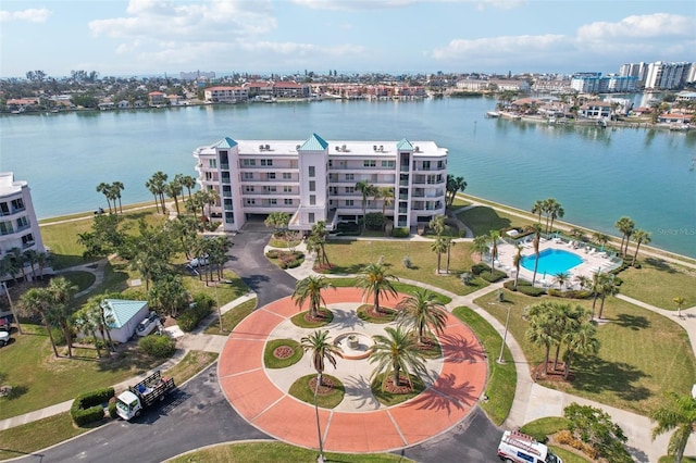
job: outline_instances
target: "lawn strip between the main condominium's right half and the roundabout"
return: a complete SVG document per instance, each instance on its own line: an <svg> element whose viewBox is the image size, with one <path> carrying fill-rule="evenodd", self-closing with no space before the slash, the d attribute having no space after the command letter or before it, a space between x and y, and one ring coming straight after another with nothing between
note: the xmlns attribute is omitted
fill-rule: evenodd
<svg viewBox="0 0 696 463"><path fill-rule="evenodd" d="M442 255L440 271L437 270L437 254L431 251L430 241L381 241L381 240L332 240L326 245L328 260L335 265L333 274L359 274L369 262L376 262L384 255L388 271L399 278L426 283L457 295L468 295L481 286L465 286L459 274L469 272L473 265L470 243L457 242L451 248L450 275L446 275L447 255ZM411 268L402 264L403 256L410 256Z"/></svg>

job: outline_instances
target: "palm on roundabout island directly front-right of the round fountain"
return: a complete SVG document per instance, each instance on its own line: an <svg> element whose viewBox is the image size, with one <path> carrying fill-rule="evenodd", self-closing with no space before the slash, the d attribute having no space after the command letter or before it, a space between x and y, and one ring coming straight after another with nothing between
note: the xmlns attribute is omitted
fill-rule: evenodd
<svg viewBox="0 0 696 463"><path fill-rule="evenodd" d="M387 326L384 328L386 336L375 335L374 347L370 355L370 363L376 363L370 378L374 378L384 373L393 375L395 385L400 384L401 372L407 375L409 386L413 389L411 375L428 376L423 360L423 352L414 342L411 333L405 330L401 326L393 328Z"/></svg>

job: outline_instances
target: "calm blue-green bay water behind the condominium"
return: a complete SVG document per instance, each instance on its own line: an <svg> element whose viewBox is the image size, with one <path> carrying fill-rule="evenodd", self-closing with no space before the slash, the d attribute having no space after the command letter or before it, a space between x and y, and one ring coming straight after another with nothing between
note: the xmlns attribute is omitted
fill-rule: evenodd
<svg viewBox="0 0 696 463"><path fill-rule="evenodd" d="M0 116L0 170L32 187L40 218L104 207L96 186L120 180L124 202L147 179L195 175L191 152L223 137L435 140L467 192L529 210L556 198L563 220L617 235L629 215L652 245L696 256L696 130L563 127L485 118L492 99L278 103Z"/></svg>

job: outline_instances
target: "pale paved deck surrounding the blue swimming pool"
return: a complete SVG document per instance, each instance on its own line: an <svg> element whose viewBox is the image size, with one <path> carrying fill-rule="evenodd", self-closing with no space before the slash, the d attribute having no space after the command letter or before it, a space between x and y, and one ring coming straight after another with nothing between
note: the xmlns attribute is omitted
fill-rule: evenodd
<svg viewBox="0 0 696 463"><path fill-rule="evenodd" d="M597 272L608 272L619 265L606 252L596 252L594 248L576 247L576 245L571 243L573 243L573 241L567 242L558 238L543 240L539 243L539 252L546 251L547 249L559 249L572 252L582 259L582 263L568 271L570 278L566 284L567 289L580 289L580 285L575 281L576 276L584 275L592 278ZM522 256L534 255L534 246L531 242L522 243L521 246ZM502 270L511 277L514 277L515 270L512 261L517 252L513 245L507 242L498 245L498 262L496 263L496 268ZM531 281L533 276L533 271L529 271L520 265L520 278ZM554 275L539 272L536 274L536 281L544 287L557 285Z"/></svg>

